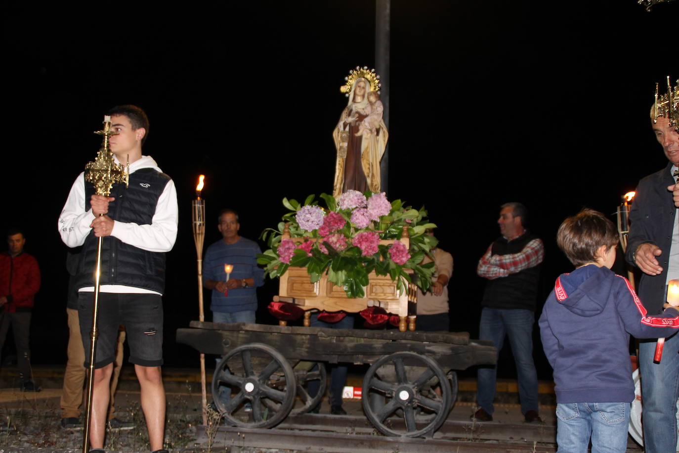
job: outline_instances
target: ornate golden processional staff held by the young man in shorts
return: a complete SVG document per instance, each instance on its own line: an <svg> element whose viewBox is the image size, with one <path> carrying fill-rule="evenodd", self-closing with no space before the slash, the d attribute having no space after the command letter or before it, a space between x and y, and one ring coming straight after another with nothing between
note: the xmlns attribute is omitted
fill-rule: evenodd
<svg viewBox="0 0 679 453"><path fill-rule="evenodd" d="M94 132L103 137L101 147L96 154L96 159L88 162L85 166L85 181L94 184L94 190L97 195L109 196L111 195L111 187L113 183L125 183L128 187L130 182L130 162L126 166L116 164L113 161L113 153L109 149L109 138L111 135L116 135L117 132L111 130L111 116L104 117L103 130ZM100 214L103 215L103 214ZM101 276L101 246L103 244L103 236L99 237L96 247L96 270L94 272L94 302L92 306L92 330L90 331L90 366L87 383L87 403L85 410L85 427L83 432L83 453L88 452L88 443L90 441L90 418L92 417L92 384L94 382L94 363L96 355L96 338L99 336L97 330L97 316L99 310L99 289Z"/></svg>

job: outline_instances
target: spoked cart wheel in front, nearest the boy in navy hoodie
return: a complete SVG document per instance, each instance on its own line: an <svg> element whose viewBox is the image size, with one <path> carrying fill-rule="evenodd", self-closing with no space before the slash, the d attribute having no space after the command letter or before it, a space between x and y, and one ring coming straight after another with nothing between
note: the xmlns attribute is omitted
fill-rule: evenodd
<svg viewBox="0 0 679 453"><path fill-rule="evenodd" d="M439 383L440 397L431 390ZM373 399L385 399L386 404L371 404ZM441 426L452 404L452 390L434 359L396 352L368 369L361 401L368 420L383 434L420 437ZM418 409L422 414L416 414Z"/></svg>

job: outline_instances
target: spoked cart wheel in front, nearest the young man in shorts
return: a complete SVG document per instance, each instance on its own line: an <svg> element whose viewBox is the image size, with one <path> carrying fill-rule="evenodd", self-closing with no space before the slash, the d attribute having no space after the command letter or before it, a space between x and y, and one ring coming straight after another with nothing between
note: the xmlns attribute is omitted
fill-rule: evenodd
<svg viewBox="0 0 679 453"><path fill-rule="evenodd" d="M295 382L295 372L280 352L267 344L244 344L217 364L213 399L228 424L271 428L292 409ZM223 398L227 401L220 398L224 393L230 395Z"/></svg>

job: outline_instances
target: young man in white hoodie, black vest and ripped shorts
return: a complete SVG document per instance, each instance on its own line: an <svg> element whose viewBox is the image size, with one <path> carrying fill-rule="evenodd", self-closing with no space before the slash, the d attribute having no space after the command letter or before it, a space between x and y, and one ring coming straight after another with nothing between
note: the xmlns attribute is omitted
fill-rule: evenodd
<svg viewBox="0 0 679 453"><path fill-rule="evenodd" d="M94 395L90 418L91 451L103 452L109 380L119 325L125 325L130 362L141 386L141 406L153 452L164 452L165 392L162 365L162 300L165 252L177 238L177 192L155 160L141 147L149 131L146 113L134 105L113 107L109 140L114 159L130 163L130 183L116 183L111 196L96 195L81 173L59 217L62 240L83 246L76 286L86 361L98 238L103 237Z"/></svg>

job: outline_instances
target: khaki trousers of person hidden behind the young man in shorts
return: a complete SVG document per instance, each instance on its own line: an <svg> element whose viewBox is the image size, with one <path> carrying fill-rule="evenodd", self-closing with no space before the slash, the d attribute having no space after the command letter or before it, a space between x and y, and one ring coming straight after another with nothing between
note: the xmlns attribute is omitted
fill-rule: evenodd
<svg viewBox="0 0 679 453"><path fill-rule="evenodd" d="M78 310L66 309L69 323L69 346L67 348L68 361L64 373L64 387L61 393L61 418L79 418L81 409L85 406L86 393L84 391L87 368L85 367L85 349L80 336ZM115 362L111 376L111 397L109 399L109 414L107 420L111 420L115 413L115 391L118 386L118 377L123 363L123 343L125 342L125 328L120 326L118 342L115 347Z"/></svg>

